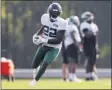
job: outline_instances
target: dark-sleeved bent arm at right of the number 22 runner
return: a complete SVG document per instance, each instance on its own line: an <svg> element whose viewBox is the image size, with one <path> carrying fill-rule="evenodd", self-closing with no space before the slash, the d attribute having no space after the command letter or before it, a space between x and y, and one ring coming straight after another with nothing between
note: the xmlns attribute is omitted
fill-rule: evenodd
<svg viewBox="0 0 112 90"><path fill-rule="evenodd" d="M59 30L55 39L49 39L49 44L60 44L64 38L65 30Z"/></svg>

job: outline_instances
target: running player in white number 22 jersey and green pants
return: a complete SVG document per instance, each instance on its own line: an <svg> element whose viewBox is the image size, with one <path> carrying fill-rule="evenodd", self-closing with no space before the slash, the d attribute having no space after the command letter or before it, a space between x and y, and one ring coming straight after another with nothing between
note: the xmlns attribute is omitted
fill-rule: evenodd
<svg viewBox="0 0 112 90"><path fill-rule="evenodd" d="M42 27L33 36L33 43L39 45L39 47L32 63L34 79L31 81L30 86L36 84L47 67L59 54L67 26L66 20L60 17L61 13L62 8L60 4L52 3L48 7L48 13L43 14L41 17ZM37 72L39 66L40 68Z"/></svg>

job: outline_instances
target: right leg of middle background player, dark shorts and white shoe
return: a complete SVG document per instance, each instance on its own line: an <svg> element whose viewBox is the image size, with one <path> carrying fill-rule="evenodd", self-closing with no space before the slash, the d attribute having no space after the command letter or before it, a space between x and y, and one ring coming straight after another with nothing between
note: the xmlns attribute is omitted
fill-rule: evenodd
<svg viewBox="0 0 112 90"><path fill-rule="evenodd" d="M74 82L80 82L81 80L76 76L76 69L78 64L78 48L71 44L67 48L69 56L69 80Z"/></svg>

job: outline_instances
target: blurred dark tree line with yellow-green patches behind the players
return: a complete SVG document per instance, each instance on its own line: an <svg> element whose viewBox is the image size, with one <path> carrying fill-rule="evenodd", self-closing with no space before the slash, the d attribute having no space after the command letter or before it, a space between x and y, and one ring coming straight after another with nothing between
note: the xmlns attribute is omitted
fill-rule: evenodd
<svg viewBox="0 0 112 90"><path fill-rule="evenodd" d="M11 58L16 68L30 68L37 46L32 36L40 28L40 18L52 1L2 1L2 56ZM63 18L79 17L84 11L95 15L99 27L100 60L98 67L111 66L111 4L109 1L59 1ZM61 54L50 66L61 67ZM80 61L80 62L83 62ZM82 65L80 65L81 67Z"/></svg>

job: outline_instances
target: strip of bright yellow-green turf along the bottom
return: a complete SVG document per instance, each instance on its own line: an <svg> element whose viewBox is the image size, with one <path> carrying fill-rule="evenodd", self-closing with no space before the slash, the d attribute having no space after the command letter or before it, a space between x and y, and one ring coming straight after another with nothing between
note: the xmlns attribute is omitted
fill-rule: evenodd
<svg viewBox="0 0 112 90"><path fill-rule="evenodd" d="M31 80L15 80L8 82L2 80L2 89L111 89L111 79L81 83L63 82L62 79L41 79L34 87L28 86Z"/></svg>

